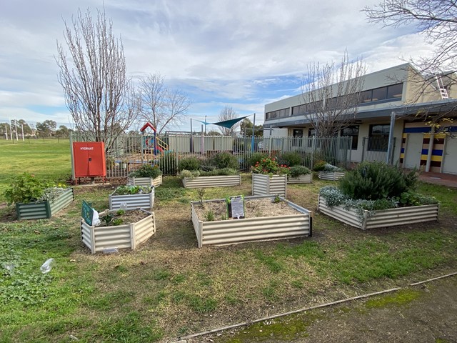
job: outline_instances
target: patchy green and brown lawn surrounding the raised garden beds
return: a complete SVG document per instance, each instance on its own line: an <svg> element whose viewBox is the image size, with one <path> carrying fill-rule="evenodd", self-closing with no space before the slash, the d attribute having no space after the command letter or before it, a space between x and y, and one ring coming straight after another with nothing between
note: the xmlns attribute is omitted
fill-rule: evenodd
<svg viewBox="0 0 457 343"><path fill-rule="evenodd" d="M69 142L0 141L1 189L17 172L68 178ZM288 185L288 199L315 211L318 189L331 183ZM0 342L159 342L457 267L456 189L421 184L441 201L439 222L363 232L314 213L313 237L198 249L189 205L197 190L165 177L155 236L135 251L92 255L81 244L81 202L106 209L113 187L75 187L75 201L46 220L19 222L0 207ZM251 194L250 175L204 198L238 194ZM55 267L41 274L49 258Z"/></svg>

